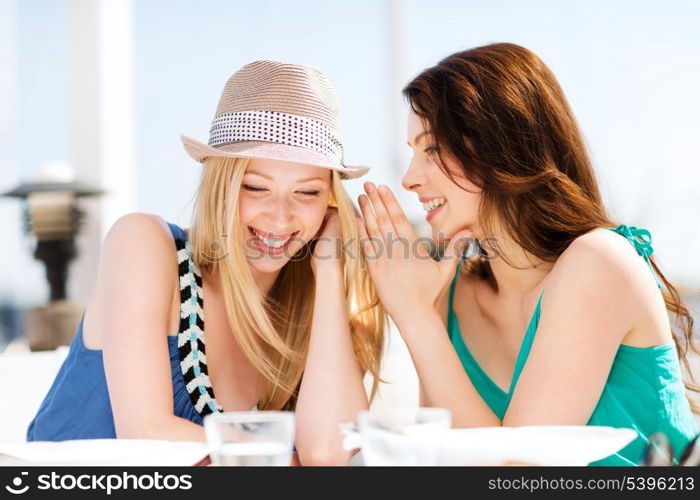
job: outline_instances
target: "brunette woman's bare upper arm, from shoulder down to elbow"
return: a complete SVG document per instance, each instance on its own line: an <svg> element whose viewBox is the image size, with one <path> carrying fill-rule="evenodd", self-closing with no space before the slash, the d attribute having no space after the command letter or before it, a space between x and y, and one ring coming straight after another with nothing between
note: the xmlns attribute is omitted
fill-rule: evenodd
<svg viewBox="0 0 700 500"><path fill-rule="evenodd" d="M584 238L560 258L567 259L561 279L545 291L537 335L503 425L585 425L640 310L662 300L626 241L607 231Z"/></svg>

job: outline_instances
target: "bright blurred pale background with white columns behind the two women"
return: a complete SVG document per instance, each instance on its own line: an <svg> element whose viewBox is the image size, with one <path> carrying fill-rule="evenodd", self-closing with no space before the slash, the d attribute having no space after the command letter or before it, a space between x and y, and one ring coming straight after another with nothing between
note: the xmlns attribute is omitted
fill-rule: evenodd
<svg viewBox="0 0 700 500"><path fill-rule="evenodd" d="M179 134L206 141L227 78L275 59L328 75L346 160L371 166L368 178L401 193L420 224L400 187L400 90L452 52L507 41L557 75L612 214L651 231L672 281L700 287L698 26L691 0L0 0L0 192L69 169L105 191L79 202L87 215L67 295L82 306L118 217L188 225L199 165ZM361 183L347 183L353 196ZM21 335L23 311L49 298L24 207L0 197L0 352ZM697 310L698 296L685 298ZM408 373L394 340L400 361L388 366Z"/></svg>

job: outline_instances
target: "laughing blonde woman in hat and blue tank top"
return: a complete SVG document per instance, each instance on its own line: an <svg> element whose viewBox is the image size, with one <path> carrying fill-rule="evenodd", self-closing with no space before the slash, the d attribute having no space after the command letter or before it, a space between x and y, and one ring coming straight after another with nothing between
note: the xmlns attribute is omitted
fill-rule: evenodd
<svg viewBox="0 0 700 500"><path fill-rule="evenodd" d="M343 163L337 123L313 68L228 80L209 143L183 136L203 168L190 229L112 227L28 440L203 440L209 413L287 409L302 464L347 463L338 423L367 408L365 373L376 390L384 313L341 182L368 169Z"/></svg>

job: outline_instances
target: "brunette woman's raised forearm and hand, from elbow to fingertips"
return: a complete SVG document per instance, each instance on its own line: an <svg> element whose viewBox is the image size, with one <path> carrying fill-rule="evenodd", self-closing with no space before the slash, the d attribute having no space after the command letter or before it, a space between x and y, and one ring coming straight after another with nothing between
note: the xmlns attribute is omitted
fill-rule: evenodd
<svg viewBox="0 0 700 500"><path fill-rule="evenodd" d="M368 266L379 298L416 367L421 404L448 408L456 427L499 425L464 372L450 343L444 315L438 312L446 311L459 237L453 238L443 260L434 262L427 250L416 244L415 231L391 192L378 191L371 183L365 189L369 197L359 199L365 223L359 224L358 230L365 253L372 256ZM390 241L392 245L413 242L408 246L411 252L389 252Z"/></svg>

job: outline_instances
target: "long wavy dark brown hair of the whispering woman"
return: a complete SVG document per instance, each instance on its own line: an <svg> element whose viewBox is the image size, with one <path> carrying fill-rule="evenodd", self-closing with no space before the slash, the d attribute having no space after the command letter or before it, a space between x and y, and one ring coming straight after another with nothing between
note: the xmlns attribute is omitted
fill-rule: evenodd
<svg viewBox="0 0 700 500"><path fill-rule="evenodd" d="M566 97L533 52L510 43L457 52L420 73L403 94L433 137L440 168L453 182L463 176L482 189L486 234L498 221L523 249L553 262L579 236L617 226ZM461 169L450 171L445 157ZM671 330L690 377L686 389L700 393L687 358L689 349L700 354L693 317L654 257L650 261L675 317ZM488 259L471 259L463 268L492 276Z"/></svg>

